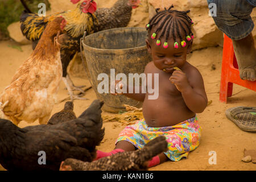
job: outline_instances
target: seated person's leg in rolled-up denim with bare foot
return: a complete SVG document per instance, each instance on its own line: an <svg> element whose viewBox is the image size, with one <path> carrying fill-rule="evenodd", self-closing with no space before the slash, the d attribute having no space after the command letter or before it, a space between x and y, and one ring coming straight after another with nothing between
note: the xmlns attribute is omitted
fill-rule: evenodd
<svg viewBox="0 0 256 182"><path fill-rule="evenodd" d="M254 3L245 0L207 0L216 5L213 16L217 27L233 40L240 77L243 80L256 80L256 49L251 31L254 28L251 11ZM211 7L211 6L210 6Z"/></svg>

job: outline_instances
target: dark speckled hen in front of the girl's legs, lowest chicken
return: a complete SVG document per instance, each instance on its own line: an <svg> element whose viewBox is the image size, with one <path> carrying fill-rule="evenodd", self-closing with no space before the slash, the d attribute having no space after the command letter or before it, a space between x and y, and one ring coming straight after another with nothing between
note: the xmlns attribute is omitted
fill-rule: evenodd
<svg viewBox="0 0 256 182"><path fill-rule="evenodd" d="M166 137L157 137L141 150L119 152L98 159L92 163L77 159L66 159L61 163L61 171L137 171L146 170L148 160L167 150Z"/></svg>

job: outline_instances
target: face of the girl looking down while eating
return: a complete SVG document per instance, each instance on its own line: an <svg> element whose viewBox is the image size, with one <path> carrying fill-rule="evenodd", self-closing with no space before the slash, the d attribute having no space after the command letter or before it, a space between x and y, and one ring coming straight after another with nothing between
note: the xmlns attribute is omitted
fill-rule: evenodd
<svg viewBox="0 0 256 182"><path fill-rule="evenodd" d="M166 73L174 72L174 67L182 69L187 54L191 52L192 43L187 42L185 47L181 47L179 43L179 48L174 48L174 40L170 39L168 40L168 48L163 48L163 40L161 40L160 46L157 46L155 42L155 39L146 39L147 49L152 56L155 67Z"/></svg>

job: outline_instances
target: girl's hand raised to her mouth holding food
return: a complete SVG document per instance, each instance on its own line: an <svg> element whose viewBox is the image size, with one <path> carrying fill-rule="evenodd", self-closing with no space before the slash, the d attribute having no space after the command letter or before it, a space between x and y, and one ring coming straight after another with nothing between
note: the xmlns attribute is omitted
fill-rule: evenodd
<svg viewBox="0 0 256 182"><path fill-rule="evenodd" d="M180 70L176 70L172 73L172 76L170 76L169 80L172 84L174 84L180 92L183 92L187 88L191 88L191 86L188 83L188 78L185 73L183 73Z"/></svg>

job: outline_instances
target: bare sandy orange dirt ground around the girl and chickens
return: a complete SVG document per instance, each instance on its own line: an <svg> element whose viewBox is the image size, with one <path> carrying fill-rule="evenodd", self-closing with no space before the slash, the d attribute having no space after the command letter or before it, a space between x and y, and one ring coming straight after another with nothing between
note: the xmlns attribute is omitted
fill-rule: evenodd
<svg viewBox="0 0 256 182"><path fill-rule="evenodd" d="M9 85L16 69L26 60L32 52L31 45L20 46L22 51L15 48L19 46L10 40L0 42L0 92ZM256 170L256 164L241 161L243 150L256 149L256 133L240 130L225 116L225 110L235 106L255 106L256 93L241 86L234 85L233 96L228 99L228 104L218 101L220 90L222 48L210 47L200 51L194 51L188 56L189 63L195 65L204 78L208 100L212 100L203 113L198 114L202 127L200 146L189 154L188 159L179 162L166 162L150 170ZM90 85L89 80L73 77L76 85ZM58 100L68 97L67 90L61 82ZM96 94L93 89L84 96L89 100L74 101L76 115L80 115L93 100ZM57 103L52 114L63 109L64 102ZM102 114L106 114L105 112ZM32 125L38 125L38 122ZM19 127L28 126L26 122L20 122ZM99 150L109 152L114 148L115 139L125 127L118 122L104 122L105 137ZM217 154L217 164L209 164L210 151ZM4 170L0 166L0 170Z"/></svg>

